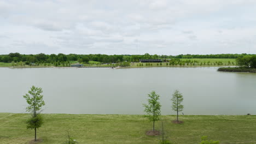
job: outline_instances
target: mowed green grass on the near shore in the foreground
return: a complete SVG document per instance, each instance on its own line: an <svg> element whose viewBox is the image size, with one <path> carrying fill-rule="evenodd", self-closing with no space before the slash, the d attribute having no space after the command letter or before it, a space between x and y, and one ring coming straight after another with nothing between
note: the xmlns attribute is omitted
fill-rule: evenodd
<svg viewBox="0 0 256 144"><path fill-rule="evenodd" d="M29 114L0 113L0 143L28 143L34 131L26 129ZM42 143L63 143L69 134L79 143L159 143L161 136L147 136L152 123L142 115L43 114L38 130ZM256 143L256 116L181 116L183 124L173 124L175 116L162 116L166 136L177 144L200 143L200 137L220 143ZM156 122L160 130L161 122Z"/></svg>

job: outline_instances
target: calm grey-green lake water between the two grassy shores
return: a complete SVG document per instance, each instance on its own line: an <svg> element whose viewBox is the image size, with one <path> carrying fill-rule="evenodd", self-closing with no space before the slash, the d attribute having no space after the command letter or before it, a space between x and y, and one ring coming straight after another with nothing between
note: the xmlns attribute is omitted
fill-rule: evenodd
<svg viewBox="0 0 256 144"><path fill-rule="evenodd" d="M143 114L148 93L160 95L162 115L175 115L171 97L183 93L184 115L256 113L256 74L217 68L0 68L0 112L24 113L32 85L43 88L43 113Z"/></svg>

